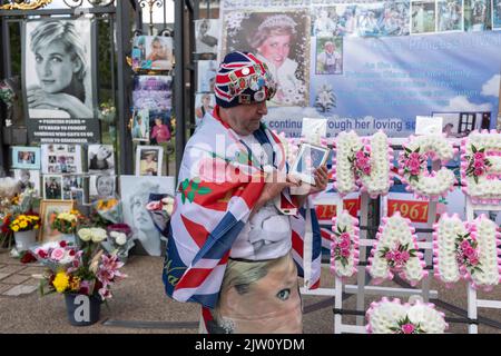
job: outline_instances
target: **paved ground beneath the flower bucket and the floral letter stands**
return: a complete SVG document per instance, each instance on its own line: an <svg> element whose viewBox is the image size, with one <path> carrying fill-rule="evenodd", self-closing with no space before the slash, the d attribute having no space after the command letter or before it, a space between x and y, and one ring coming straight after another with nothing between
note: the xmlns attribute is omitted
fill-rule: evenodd
<svg viewBox="0 0 501 356"><path fill-rule="evenodd" d="M114 286L115 297L108 303L109 308L101 308L100 322L88 327L70 326L66 315L65 299L61 295L40 296L37 291L38 280L29 273L38 274L40 267L30 264L21 265L8 254L0 253L0 268L9 270L8 278L17 276L22 283L6 284L0 280L0 333L69 333L69 334L196 334L198 332L199 306L178 303L166 297L161 281L163 258L131 256L124 267L129 277L121 284ZM1 273L1 271L0 271ZM14 280L14 279L9 279ZM328 268L322 271L321 286L333 286L333 278ZM347 280L356 284L356 279ZM393 281L385 281L383 286L400 287ZM439 299L465 310L466 285L456 284L446 289L442 284L433 280L431 288L438 290ZM501 300L501 286L492 293L479 291L479 298ZM367 296L365 308L381 296ZM402 298L406 301L405 298ZM303 296L304 332L306 334L332 334L334 328L333 299L327 296ZM355 309L356 297L351 296L343 303L343 308ZM458 314L444 312L448 317ZM479 309L479 315L497 323L501 323L501 310ZM355 317L343 316L343 323L355 324ZM116 325L116 326L114 326ZM468 333L464 324L451 324L449 333ZM501 334L501 329L484 324L479 326L481 334Z"/></svg>

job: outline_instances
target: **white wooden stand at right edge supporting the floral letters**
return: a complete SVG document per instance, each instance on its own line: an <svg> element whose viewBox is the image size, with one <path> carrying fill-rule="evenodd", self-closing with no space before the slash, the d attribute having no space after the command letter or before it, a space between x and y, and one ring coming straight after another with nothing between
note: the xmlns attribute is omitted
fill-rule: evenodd
<svg viewBox="0 0 501 356"><path fill-rule="evenodd" d="M474 211L478 210L501 211L501 206L475 205L471 201L470 197L466 196L466 220L472 221L474 219ZM477 319L478 308L501 309L501 301L477 298L477 289L474 289L471 285L471 281L469 281L468 284L468 318L470 319L470 326L468 327L469 334L479 333L479 322Z"/></svg>

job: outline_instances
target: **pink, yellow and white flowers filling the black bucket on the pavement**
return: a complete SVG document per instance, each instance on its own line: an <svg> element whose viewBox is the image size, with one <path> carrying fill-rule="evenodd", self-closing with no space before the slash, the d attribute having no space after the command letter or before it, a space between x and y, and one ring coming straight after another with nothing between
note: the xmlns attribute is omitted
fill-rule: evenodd
<svg viewBox="0 0 501 356"><path fill-rule="evenodd" d="M105 229L82 228L78 237L79 248L60 241L35 249L38 260L49 267L41 276L41 294L98 294L101 300L107 300L112 297L111 286L127 277L119 271L124 264L116 255L107 255L101 249L107 238Z"/></svg>

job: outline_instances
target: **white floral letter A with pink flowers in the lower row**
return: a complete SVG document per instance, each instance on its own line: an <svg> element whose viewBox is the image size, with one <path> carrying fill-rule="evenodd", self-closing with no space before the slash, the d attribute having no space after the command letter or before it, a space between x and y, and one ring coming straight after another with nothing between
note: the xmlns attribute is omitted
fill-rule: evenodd
<svg viewBox="0 0 501 356"><path fill-rule="evenodd" d="M376 234L376 240L369 258L367 271L374 278L374 284L385 279L393 279L394 273L415 286L423 277L423 254L418 251L415 229L410 219L403 218L400 212L383 218Z"/></svg>

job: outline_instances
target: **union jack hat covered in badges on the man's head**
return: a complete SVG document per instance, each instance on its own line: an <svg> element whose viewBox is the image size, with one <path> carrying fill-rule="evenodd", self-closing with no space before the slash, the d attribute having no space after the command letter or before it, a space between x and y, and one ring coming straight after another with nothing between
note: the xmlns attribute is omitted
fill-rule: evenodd
<svg viewBox="0 0 501 356"><path fill-rule="evenodd" d="M249 52L230 52L219 66L214 87L216 102L223 108L269 100L276 82L266 63Z"/></svg>

